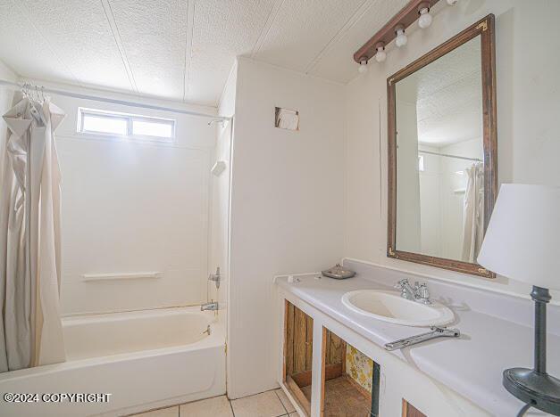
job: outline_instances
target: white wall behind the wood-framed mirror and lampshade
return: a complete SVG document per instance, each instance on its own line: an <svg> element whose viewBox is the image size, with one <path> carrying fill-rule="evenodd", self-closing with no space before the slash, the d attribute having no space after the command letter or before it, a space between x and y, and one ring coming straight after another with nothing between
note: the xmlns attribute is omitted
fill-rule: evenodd
<svg viewBox="0 0 560 417"><path fill-rule="evenodd" d="M405 48L388 47L346 89L347 204L345 254L526 296L529 287L498 277L490 281L386 257L387 244L387 78L485 15L496 15L497 132L499 181L560 185L560 38L555 23L560 2L541 0L439 2L428 30L407 30ZM557 294L556 294L557 296ZM557 298L556 298L557 299Z"/></svg>

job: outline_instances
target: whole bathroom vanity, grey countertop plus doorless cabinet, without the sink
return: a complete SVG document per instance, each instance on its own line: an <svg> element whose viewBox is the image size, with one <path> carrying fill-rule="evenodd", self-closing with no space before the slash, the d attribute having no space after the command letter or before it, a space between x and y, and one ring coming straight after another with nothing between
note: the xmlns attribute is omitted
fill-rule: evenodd
<svg viewBox="0 0 560 417"><path fill-rule="evenodd" d="M321 274L276 279L283 340L278 381L301 415L337 415L337 406L381 417L516 415L522 403L502 387L502 372L531 364L528 299L353 260L344 265L358 274L341 281ZM446 325L458 328L459 338L389 352L386 343L430 329L389 323L343 301L360 290L398 297L394 286L403 279L427 282L434 303L452 312ZM550 306L549 322L548 367L558 374L560 357L553 352L560 351L559 307Z"/></svg>

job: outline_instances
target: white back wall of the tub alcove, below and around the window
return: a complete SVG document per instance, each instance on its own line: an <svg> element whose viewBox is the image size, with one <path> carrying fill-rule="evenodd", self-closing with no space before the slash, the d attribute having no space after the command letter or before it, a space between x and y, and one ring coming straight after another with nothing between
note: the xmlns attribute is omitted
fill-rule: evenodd
<svg viewBox="0 0 560 417"><path fill-rule="evenodd" d="M208 119L163 111L63 96L53 102L67 115L56 131L63 174L63 314L205 302L215 127ZM177 119L176 143L77 135L79 106ZM83 274L152 271L163 274L81 280Z"/></svg>

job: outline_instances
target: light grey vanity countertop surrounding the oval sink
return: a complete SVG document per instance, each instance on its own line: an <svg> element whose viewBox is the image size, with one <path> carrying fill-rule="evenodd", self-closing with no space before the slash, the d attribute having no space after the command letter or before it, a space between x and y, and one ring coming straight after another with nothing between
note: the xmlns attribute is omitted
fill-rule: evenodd
<svg viewBox="0 0 560 417"><path fill-rule="evenodd" d="M352 264L355 266L355 264ZM277 284L298 298L303 299L324 314L339 323L356 331L366 339L383 347L385 343L402 339L427 331L425 328L408 327L385 323L366 315L360 315L342 304L341 298L352 290L392 290L388 285L388 276L394 279L396 273L381 267L371 267L370 274L359 273L347 280L318 278L320 274L297 275L299 282L289 283L287 277L277 278ZM380 280L375 276L388 275ZM402 278L402 274L400 278ZM406 277L406 275L404 275ZM408 275L413 281L414 276ZM418 279L418 278L416 278ZM456 315L456 322L448 327L456 327L461 331L460 339L438 339L425 344L405 347L393 352L408 363L429 375L435 380L455 390L473 403L497 416L516 415L522 402L511 396L502 387L502 372L510 367L529 367L532 365L533 330L527 323L527 315L532 315L532 303L522 298L489 294L493 306L490 309L480 307L471 289L460 285L441 284L427 281L434 288L434 296L442 304L450 307ZM396 283L394 281L393 283ZM441 287L441 288L438 288ZM467 293L466 301L458 301L456 291ZM453 290L450 290L453 288ZM454 293L446 297L446 290ZM476 292L477 290L475 290ZM439 293L439 294L438 294ZM480 295L479 298L484 298ZM472 303L470 303L470 298ZM497 306L496 299L503 298L504 306ZM509 311L528 310L522 312L525 320L511 320ZM482 311L481 311L482 310ZM505 316L500 317L501 314ZM555 310L554 318L557 312ZM509 317L510 319L506 319ZM523 323L525 322L525 323ZM560 336L547 334L547 370L552 375L560 375Z"/></svg>

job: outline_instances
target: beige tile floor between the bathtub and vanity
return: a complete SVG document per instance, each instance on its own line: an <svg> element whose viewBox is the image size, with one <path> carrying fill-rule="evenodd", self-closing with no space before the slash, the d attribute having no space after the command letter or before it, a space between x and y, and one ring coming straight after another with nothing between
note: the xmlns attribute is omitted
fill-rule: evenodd
<svg viewBox="0 0 560 417"><path fill-rule="evenodd" d="M297 416L284 391L274 389L251 397L230 401L228 397L207 398L173 405L131 417L280 417Z"/></svg>

